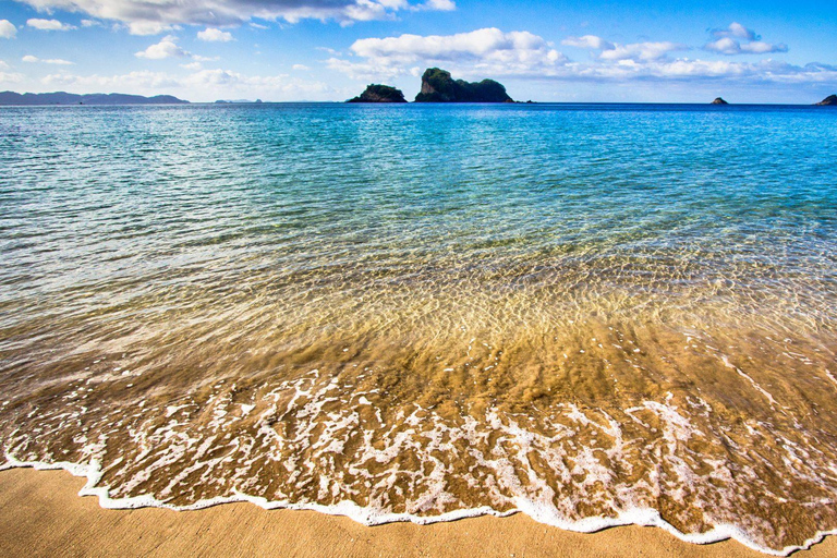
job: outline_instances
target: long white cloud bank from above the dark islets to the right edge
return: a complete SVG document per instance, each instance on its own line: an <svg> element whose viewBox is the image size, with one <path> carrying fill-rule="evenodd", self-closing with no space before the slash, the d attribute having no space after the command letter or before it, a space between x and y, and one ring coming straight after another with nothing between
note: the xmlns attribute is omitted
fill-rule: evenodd
<svg viewBox="0 0 837 558"><path fill-rule="evenodd" d="M754 36L735 27L730 33ZM728 37L720 37L718 40ZM730 39L735 40L735 39ZM463 77L520 77L568 82L740 82L834 83L837 69L827 64L804 66L773 60L733 62L676 57L691 50L687 45L646 41L628 45L610 43L595 35L568 37L562 45L583 48L595 58L583 62L567 59L551 44L526 32L502 33L478 29L447 36L401 35L356 40L349 56L332 53L326 63L356 80L397 78L421 75L430 65ZM747 43L751 52L766 49L760 40ZM743 45L742 45L743 48Z"/></svg>

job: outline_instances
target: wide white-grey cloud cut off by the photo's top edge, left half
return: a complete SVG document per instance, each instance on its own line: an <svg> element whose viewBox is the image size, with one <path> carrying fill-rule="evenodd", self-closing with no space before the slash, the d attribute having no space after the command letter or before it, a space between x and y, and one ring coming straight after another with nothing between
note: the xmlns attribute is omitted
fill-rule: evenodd
<svg viewBox="0 0 837 558"><path fill-rule="evenodd" d="M135 35L155 35L177 25L219 27L252 19L290 23L304 19L356 21L387 20L402 10L451 10L451 0L21 0L41 11L60 9L99 20L124 23Z"/></svg>

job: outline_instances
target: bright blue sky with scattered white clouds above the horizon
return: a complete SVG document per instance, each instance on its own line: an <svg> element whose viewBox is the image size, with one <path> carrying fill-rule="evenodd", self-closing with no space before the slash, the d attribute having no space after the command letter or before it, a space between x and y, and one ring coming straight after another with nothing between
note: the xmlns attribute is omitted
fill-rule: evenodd
<svg viewBox="0 0 837 558"><path fill-rule="evenodd" d="M812 104L837 2L0 0L0 90L412 99L430 66L518 100Z"/></svg>

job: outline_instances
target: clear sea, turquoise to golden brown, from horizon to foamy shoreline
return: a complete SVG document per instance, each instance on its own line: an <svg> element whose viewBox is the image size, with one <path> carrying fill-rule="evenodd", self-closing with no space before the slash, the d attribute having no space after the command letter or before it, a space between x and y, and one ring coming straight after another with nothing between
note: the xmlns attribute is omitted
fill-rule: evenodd
<svg viewBox="0 0 837 558"><path fill-rule="evenodd" d="M8 464L116 505L803 545L837 530L835 124L0 109Z"/></svg>

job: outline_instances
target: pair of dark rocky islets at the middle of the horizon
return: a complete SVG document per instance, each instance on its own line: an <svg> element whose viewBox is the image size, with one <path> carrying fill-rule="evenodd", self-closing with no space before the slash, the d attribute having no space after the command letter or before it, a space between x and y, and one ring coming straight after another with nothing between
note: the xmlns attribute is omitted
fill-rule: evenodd
<svg viewBox="0 0 837 558"><path fill-rule="evenodd" d="M401 89L390 85L373 84L347 102L407 102ZM450 72L428 68L422 75L422 90L415 102L514 102L506 87L494 80L465 82L453 80Z"/></svg>

